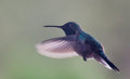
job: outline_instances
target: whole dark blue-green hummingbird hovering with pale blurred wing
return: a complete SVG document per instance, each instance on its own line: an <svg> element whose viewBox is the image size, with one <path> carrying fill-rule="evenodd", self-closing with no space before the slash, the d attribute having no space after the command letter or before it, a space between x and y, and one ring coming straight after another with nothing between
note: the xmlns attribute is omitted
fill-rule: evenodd
<svg viewBox="0 0 130 79"><path fill-rule="evenodd" d="M44 56L53 58L66 58L81 56L83 61L94 58L108 69L119 71L119 69L107 58L103 45L91 35L84 32L75 22L68 22L56 27L64 30L65 36L46 40L36 44L37 51Z"/></svg>

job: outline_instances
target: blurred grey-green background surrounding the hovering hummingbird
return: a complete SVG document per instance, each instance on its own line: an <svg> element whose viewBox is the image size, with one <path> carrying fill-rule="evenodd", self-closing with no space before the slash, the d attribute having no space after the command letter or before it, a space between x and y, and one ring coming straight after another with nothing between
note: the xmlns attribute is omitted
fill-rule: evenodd
<svg viewBox="0 0 130 79"><path fill-rule="evenodd" d="M120 73L36 52L36 43L64 36L43 25L69 21L103 43ZM130 79L130 0L0 0L0 79Z"/></svg>

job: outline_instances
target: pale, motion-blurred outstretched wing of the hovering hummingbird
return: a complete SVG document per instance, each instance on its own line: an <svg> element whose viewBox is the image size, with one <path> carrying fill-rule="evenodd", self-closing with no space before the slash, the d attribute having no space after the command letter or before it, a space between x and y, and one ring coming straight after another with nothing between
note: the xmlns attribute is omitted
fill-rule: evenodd
<svg viewBox="0 0 130 79"><path fill-rule="evenodd" d="M75 44L75 37L54 38L42 43L36 44L37 51L46 56L53 58L65 58L77 56L73 45Z"/></svg>

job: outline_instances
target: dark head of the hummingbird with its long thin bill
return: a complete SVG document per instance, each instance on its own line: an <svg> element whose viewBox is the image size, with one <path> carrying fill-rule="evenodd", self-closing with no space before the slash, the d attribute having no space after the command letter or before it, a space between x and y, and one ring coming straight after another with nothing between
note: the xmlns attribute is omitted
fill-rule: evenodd
<svg viewBox="0 0 130 79"><path fill-rule="evenodd" d="M64 32L66 34L66 36L76 35L77 31L79 32L81 30L80 26L76 24L75 22L68 22L62 26L44 26L44 27L62 28Z"/></svg>

